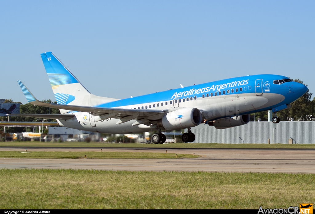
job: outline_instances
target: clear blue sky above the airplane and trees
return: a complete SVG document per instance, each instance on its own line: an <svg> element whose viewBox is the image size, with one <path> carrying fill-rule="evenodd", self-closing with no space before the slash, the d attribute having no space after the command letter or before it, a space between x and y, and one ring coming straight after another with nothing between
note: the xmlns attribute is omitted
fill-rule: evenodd
<svg viewBox="0 0 315 214"><path fill-rule="evenodd" d="M315 1L2 1L0 98L54 99L40 53L91 92L128 98L253 74L315 95Z"/></svg>

